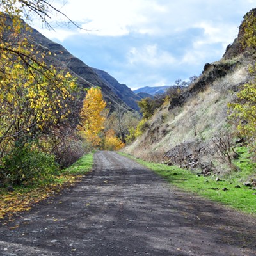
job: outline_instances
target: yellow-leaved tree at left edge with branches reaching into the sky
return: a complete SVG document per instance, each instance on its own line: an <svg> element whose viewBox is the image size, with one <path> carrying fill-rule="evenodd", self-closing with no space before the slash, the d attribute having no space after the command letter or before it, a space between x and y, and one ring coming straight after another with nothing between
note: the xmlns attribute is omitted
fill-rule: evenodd
<svg viewBox="0 0 256 256"><path fill-rule="evenodd" d="M6 138L17 140L31 128L44 130L63 120L70 113L67 105L75 84L67 71L45 63L51 52L33 45L31 28L20 19L36 14L49 25L52 11L61 12L41 0L4 0L0 6L1 147Z"/></svg>

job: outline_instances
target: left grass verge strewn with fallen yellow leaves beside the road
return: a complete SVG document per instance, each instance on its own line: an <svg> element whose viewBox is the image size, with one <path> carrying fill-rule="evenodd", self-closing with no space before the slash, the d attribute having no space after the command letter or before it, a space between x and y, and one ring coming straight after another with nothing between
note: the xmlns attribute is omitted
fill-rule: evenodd
<svg viewBox="0 0 256 256"><path fill-rule="evenodd" d="M63 188L73 186L92 169L93 152L84 155L69 168L61 170L51 182L33 186L15 186L13 192L0 188L0 219L3 223L12 220L13 215L29 211L36 204L50 196L58 195Z"/></svg>

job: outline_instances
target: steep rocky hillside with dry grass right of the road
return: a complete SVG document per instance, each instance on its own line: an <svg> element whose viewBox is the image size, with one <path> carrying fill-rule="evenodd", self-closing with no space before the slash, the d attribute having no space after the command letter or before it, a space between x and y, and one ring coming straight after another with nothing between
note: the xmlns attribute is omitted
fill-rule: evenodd
<svg viewBox="0 0 256 256"><path fill-rule="evenodd" d="M220 170L221 157L225 158L220 155L220 141L234 143L227 104L236 99L239 87L252 79L248 66L255 62L255 50L242 51L241 36L240 27L223 58L205 64L194 83L156 109L143 126L143 135L126 152L147 160L201 168L203 173Z"/></svg>

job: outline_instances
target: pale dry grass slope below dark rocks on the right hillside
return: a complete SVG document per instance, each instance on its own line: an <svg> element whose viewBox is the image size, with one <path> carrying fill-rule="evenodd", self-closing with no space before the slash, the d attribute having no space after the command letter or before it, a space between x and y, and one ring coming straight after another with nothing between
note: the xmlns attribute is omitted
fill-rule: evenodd
<svg viewBox="0 0 256 256"><path fill-rule="evenodd" d="M247 67L236 67L227 76L209 84L204 92L191 97L183 106L172 111L166 107L158 110L148 121L148 131L125 148L125 152L161 162L164 152L184 141L211 140L227 125L227 103L234 99L230 88L245 83L246 79Z"/></svg>

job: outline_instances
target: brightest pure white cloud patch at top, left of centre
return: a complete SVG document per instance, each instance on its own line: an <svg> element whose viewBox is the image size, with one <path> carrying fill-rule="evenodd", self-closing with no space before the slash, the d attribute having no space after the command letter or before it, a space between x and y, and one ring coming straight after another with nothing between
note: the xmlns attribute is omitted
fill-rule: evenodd
<svg viewBox="0 0 256 256"><path fill-rule="evenodd" d="M145 33L151 15L164 12L157 1L147 0L69 0L60 10L93 35L101 36L123 36L133 30Z"/></svg>

